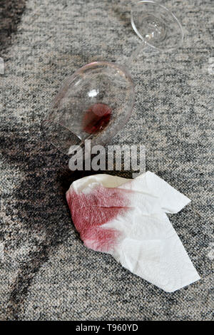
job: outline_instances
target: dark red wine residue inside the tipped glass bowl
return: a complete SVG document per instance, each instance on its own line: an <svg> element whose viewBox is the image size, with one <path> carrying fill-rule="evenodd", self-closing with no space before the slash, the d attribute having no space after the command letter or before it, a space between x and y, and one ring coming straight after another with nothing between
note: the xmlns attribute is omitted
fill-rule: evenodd
<svg viewBox="0 0 214 335"><path fill-rule="evenodd" d="M96 103L88 108L83 117L83 130L96 134L106 128L111 119L112 110L104 103Z"/></svg>

